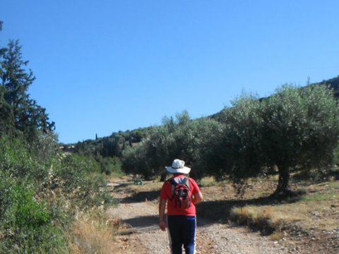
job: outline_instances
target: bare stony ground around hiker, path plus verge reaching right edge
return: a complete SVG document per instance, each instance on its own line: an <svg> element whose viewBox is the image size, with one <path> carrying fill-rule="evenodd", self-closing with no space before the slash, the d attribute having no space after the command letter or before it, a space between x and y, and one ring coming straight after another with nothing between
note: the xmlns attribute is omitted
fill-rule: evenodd
<svg viewBox="0 0 339 254"><path fill-rule="evenodd" d="M144 186L154 184L145 182ZM167 232L158 227L159 189L131 188L132 181L126 179L114 181L109 186L114 198L119 200L119 206L108 211L109 217L121 219L114 253L170 253ZM269 235L237 226L227 217L220 216L220 210L224 210L221 211L224 214L227 209L229 211L229 203L225 200L232 202L235 196L231 186L207 186L201 191L204 202L197 206L196 253L339 253L339 228L303 231L298 226L291 226L288 234L284 231L281 238L273 240ZM244 202L256 198L246 196Z"/></svg>

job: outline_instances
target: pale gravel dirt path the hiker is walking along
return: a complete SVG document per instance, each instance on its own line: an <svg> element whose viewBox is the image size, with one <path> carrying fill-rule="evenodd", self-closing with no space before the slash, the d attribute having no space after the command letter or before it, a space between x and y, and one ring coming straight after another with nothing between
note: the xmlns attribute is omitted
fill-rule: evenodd
<svg viewBox="0 0 339 254"><path fill-rule="evenodd" d="M118 184L120 183L111 183L111 186ZM110 209L109 216L120 218L126 224L126 229L117 239L119 253L170 253L167 231L163 232L158 227L157 202L129 197L121 189L119 192L113 191L113 195L120 200L120 205ZM198 217L196 253L264 254L299 251L289 250L280 242L273 242L266 236L242 227L215 223Z"/></svg>

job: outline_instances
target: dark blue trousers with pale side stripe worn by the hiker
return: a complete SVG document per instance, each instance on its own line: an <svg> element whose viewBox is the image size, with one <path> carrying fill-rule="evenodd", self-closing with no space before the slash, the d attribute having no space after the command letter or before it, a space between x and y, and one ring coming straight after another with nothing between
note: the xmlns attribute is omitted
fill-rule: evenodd
<svg viewBox="0 0 339 254"><path fill-rule="evenodd" d="M169 245L172 254L194 254L196 248L196 217L185 215L168 215Z"/></svg>

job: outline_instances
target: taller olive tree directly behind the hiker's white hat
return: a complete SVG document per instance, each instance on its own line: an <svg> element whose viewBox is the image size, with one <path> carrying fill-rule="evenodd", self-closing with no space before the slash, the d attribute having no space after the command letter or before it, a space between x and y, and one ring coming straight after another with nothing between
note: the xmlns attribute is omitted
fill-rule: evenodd
<svg viewBox="0 0 339 254"><path fill-rule="evenodd" d="M220 123L208 118L191 120L186 111L177 115L176 119L174 122L171 119L165 122L162 128L167 131L150 138L153 140L153 149L149 147L149 156L153 159L153 167L165 176L164 166L178 158L192 168L191 175L196 179L212 175L208 163L208 155L212 151L209 144L215 133L220 131Z"/></svg>

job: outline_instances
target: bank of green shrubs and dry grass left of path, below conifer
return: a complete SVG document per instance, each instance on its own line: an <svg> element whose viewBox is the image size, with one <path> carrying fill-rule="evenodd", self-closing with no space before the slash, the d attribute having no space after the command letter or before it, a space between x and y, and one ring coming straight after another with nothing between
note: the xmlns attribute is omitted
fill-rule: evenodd
<svg viewBox="0 0 339 254"><path fill-rule="evenodd" d="M42 163L6 138L0 151L0 253L69 253L66 232L78 210L112 204L93 158L47 152Z"/></svg>

